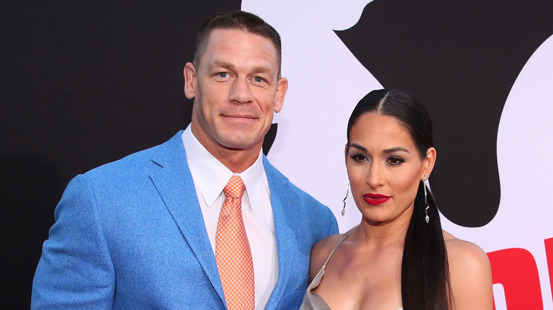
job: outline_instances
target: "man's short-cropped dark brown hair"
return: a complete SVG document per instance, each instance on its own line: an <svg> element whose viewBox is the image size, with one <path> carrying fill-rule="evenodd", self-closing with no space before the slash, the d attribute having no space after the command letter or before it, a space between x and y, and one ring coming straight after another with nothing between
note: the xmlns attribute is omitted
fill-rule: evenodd
<svg viewBox="0 0 553 310"><path fill-rule="evenodd" d="M196 39L196 50L194 51L193 63L196 68L199 67L200 58L206 51L209 35L214 29L242 30L271 40L275 50L277 50L277 63L279 64L280 76L282 46L279 33L277 33L277 30L272 25L263 21L259 16L245 11L220 13L203 22Z"/></svg>

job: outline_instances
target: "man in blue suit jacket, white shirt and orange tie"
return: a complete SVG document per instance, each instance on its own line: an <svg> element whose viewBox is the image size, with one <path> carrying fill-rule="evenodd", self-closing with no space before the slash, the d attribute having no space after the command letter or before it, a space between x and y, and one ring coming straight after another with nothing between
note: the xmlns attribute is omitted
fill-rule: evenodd
<svg viewBox="0 0 553 310"><path fill-rule="evenodd" d="M31 308L297 309L311 247L337 223L262 155L288 88L280 63L257 16L206 21L184 67L191 125L69 183Z"/></svg>

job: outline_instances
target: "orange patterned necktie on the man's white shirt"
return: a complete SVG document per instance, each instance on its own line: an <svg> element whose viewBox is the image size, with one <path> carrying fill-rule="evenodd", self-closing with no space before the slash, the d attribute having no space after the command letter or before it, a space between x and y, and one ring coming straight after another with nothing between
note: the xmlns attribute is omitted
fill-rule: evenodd
<svg viewBox="0 0 553 310"><path fill-rule="evenodd" d="M215 258L229 310L255 309L252 252L242 220L245 188L240 176L230 178L217 224Z"/></svg>

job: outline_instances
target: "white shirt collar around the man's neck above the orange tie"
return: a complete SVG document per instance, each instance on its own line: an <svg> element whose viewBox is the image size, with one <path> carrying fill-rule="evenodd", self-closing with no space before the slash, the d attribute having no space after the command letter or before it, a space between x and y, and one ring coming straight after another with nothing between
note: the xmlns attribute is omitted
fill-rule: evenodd
<svg viewBox="0 0 553 310"><path fill-rule="evenodd" d="M262 151L259 151L259 156L255 162L241 173L233 173L223 163L220 163L203 145L196 139L191 130L191 125L186 127L186 130L181 135L184 149L186 150L186 158L194 183L199 188L203 199L206 200L206 205L211 207L215 200L223 193L225 185L227 185L230 177L240 176L246 186L245 197L250 200L252 212L255 212L259 205L259 196L263 189L263 184L267 181L265 169L262 160Z"/></svg>

